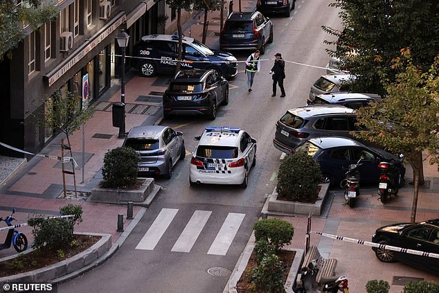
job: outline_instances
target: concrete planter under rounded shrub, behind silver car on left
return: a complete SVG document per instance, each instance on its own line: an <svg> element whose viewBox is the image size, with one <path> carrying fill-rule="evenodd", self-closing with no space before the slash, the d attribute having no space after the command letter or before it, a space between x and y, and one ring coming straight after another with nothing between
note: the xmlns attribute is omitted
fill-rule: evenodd
<svg viewBox="0 0 439 293"><path fill-rule="evenodd" d="M143 184L136 190L120 188L93 188L91 190L91 202L144 202L147 195L154 190L154 179L145 178Z"/></svg>

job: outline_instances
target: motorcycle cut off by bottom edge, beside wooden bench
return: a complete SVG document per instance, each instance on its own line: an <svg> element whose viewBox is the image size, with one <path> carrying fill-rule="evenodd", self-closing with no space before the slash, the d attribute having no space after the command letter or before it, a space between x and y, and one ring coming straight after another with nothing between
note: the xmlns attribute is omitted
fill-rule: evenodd
<svg viewBox="0 0 439 293"><path fill-rule="evenodd" d="M302 267L296 278L293 292L295 293L320 293L318 290L316 276L319 269L316 267L316 260L312 260L307 267ZM323 293L349 293L348 278L345 276L334 276L321 278L321 292Z"/></svg>

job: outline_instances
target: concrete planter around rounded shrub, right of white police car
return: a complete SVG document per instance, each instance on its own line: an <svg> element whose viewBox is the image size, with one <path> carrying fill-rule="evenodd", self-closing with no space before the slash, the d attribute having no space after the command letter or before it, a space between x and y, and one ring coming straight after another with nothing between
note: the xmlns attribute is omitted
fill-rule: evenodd
<svg viewBox="0 0 439 293"><path fill-rule="evenodd" d="M321 189L319 192L319 199L314 204L279 200L278 193L276 193L275 189L268 199L268 213L298 213L302 215L309 215L310 213L314 213L314 215L320 215L323 204L325 203L326 196L328 195L329 184L320 184L320 186Z"/></svg>

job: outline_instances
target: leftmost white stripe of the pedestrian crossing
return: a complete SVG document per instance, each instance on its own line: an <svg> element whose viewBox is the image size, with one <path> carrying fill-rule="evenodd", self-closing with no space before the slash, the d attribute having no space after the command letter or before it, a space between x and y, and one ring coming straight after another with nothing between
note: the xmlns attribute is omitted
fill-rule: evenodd
<svg viewBox="0 0 439 293"><path fill-rule="evenodd" d="M153 250L159 242L161 236L168 229L172 220L179 210L177 208L162 208L150 229L145 233L142 240L138 242L136 249Z"/></svg>

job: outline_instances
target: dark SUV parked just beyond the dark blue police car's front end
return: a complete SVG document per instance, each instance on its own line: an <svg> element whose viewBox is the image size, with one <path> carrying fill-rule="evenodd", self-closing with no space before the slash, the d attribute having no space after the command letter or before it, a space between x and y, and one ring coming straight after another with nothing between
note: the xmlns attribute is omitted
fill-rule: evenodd
<svg viewBox="0 0 439 293"><path fill-rule="evenodd" d="M273 42L273 23L261 12L232 12L220 35L220 49L252 50L265 53L265 44Z"/></svg>

